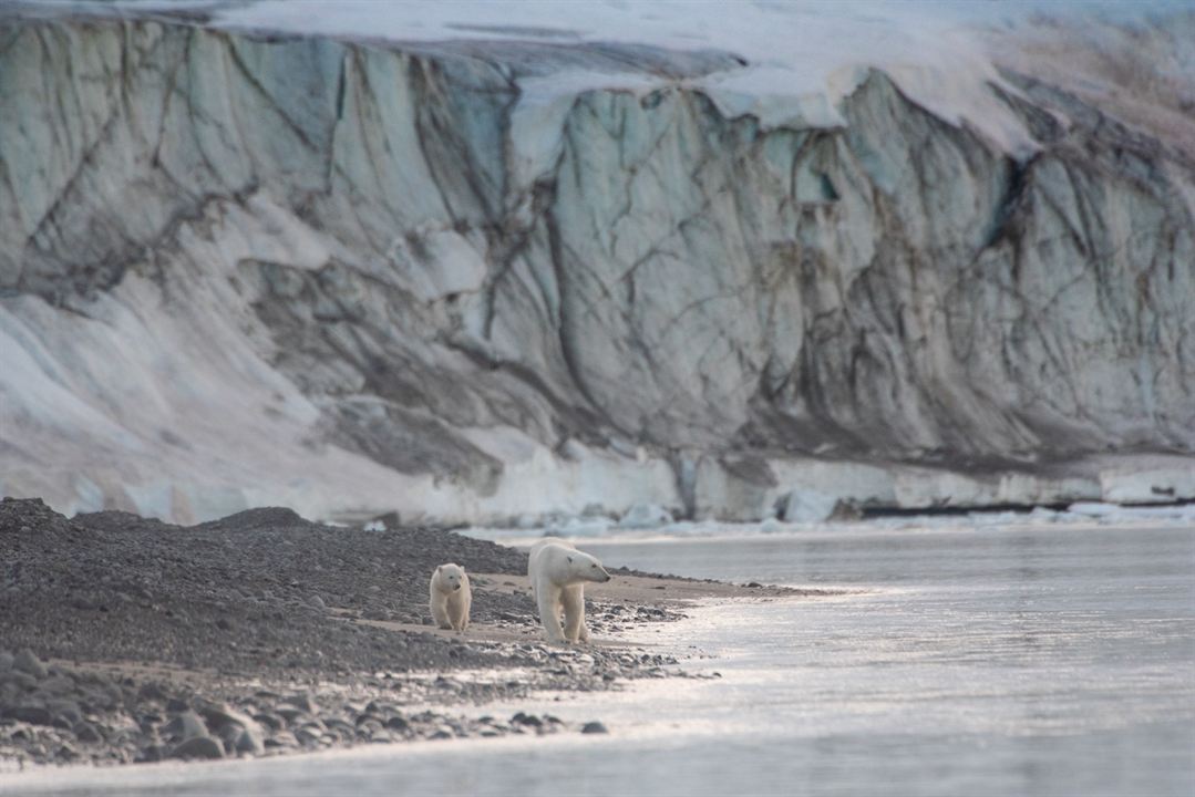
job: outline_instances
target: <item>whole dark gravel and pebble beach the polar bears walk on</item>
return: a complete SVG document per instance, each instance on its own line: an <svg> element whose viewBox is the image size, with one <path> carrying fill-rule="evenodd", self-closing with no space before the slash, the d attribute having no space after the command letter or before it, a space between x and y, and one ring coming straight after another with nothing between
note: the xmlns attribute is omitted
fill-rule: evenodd
<svg viewBox="0 0 1195 797"><path fill-rule="evenodd" d="M569 648L540 640L525 554L440 529L320 526L287 509L194 527L115 511L68 520L6 498L0 553L6 770L601 732L600 718L453 707L676 674L672 657L609 634L678 619L679 593L713 589L615 569L589 601L606 642ZM428 575L449 560L473 574L466 636L428 617Z"/></svg>

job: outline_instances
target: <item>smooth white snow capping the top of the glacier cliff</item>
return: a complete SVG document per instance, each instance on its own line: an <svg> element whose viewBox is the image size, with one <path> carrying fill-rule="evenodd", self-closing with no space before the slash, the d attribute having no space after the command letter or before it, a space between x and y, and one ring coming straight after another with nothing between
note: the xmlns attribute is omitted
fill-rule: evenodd
<svg viewBox="0 0 1195 797"><path fill-rule="evenodd" d="M203 4L198 4L203 5ZM118 4L129 12L137 4ZM141 6L145 8L146 6ZM741 68L693 80L729 116L749 114L765 127L838 127L841 99L859 74L878 68L911 99L955 124L980 130L1016 157L1036 143L991 90L1016 96L994 66L1000 35L1041 30L1042 19L1071 23L1093 16L1141 19L1181 4L1050 2L435 2L342 0L326 8L265 0L209 4L214 24L403 43L446 41L553 44L620 43L741 56ZM534 31L541 31L537 37ZM993 33L995 33L993 36ZM1065 31L1062 32L1065 35ZM569 72L526 78L511 140L515 173L529 185L557 151L569 96L596 88L639 91L651 79L633 65L617 75Z"/></svg>

